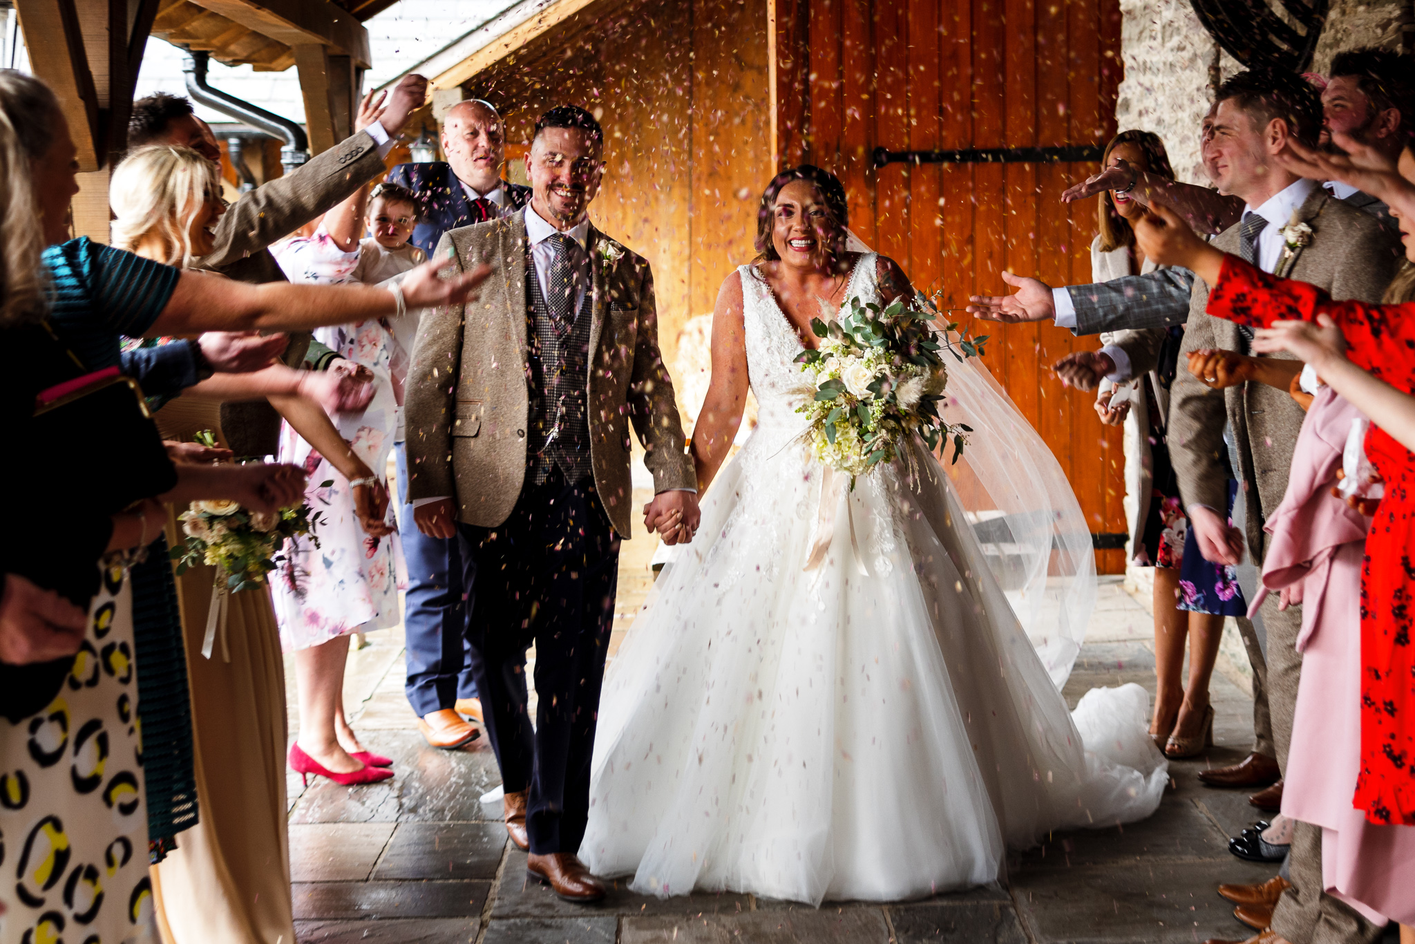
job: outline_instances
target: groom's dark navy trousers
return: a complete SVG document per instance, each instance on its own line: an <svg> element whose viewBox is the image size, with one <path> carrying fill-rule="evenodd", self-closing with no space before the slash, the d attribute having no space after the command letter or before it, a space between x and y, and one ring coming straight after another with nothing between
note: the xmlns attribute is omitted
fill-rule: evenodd
<svg viewBox="0 0 1415 944"><path fill-rule="evenodd" d="M593 478L555 470L526 484L497 528L458 524L467 638L507 793L531 791L531 852L576 852L590 814L590 759L618 577L620 538ZM535 643L536 723L526 710Z"/></svg>

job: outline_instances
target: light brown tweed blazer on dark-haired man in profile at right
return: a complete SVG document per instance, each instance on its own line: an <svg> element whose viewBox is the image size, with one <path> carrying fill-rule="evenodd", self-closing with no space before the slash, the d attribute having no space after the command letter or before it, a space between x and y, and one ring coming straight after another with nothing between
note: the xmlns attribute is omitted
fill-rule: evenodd
<svg viewBox="0 0 1415 944"><path fill-rule="evenodd" d="M1283 275L1324 289L1333 299L1378 301L1399 262L1399 239L1371 214L1356 209L1316 188L1298 208L1299 221L1312 226L1312 242L1299 248ZM1224 252L1238 253L1238 226L1214 238ZM1238 453L1240 478L1247 497L1248 551L1261 563L1268 535L1262 525L1282 504L1298 432L1306 413L1285 391L1264 384L1244 384L1214 391L1186 368L1190 351L1242 350L1238 326L1204 311L1208 286L1194 280L1189 324L1180 347L1179 375L1169 401L1169 456L1186 505L1223 510L1228 501L1224 481L1224 420ZM1275 357L1292 359L1282 352ZM1257 497L1257 500L1254 498Z"/></svg>

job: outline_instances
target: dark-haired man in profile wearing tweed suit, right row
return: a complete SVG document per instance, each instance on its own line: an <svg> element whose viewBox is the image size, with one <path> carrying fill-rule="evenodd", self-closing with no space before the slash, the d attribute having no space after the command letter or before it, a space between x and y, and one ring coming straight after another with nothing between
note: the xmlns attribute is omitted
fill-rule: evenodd
<svg viewBox="0 0 1415 944"><path fill-rule="evenodd" d="M1224 82L1215 100L1214 137L1206 160L1220 188L1241 197L1248 209L1214 245L1254 260L1264 272L1303 279L1337 297L1378 299L1395 265L1388 231L1374 217L1298 177L1278 159L1289 142L1316 144L1322 110L1312 86L1296 76L1248 71ZM1166 256L1156 260L1174 262ZM1248 352L1251 333L1206 314L1207 301L1208 283L1196 280L1180 354L1211 348ZM1200 552L1215 563L1237 565L1247 543L1252 559L1262 562L1268 541L1261 522L1286 491L1302 409L1283 391L1245 384L1220 395L1182 371L1174 379L1169 419L1170 456ZM1240 466L1234 471L1242 476L1248 502L1247 535L1227 525L1217 511L1227 501L1218 459L1228 451L1223 442L1225 422L1234 430ZM1281 770L1288 761L1302 668L1296 650L1302 614L1300 607L1279 609L1271 597L1261 609L1268 633L1264 688ZM1353 941L1374 940L1380 928L1323 893L1320 834L1315 828L1296 824L1289 870L1293 887L1276 903L1274 934L1306 941L1312 928L1326 924L1343 928Z"/></svg>

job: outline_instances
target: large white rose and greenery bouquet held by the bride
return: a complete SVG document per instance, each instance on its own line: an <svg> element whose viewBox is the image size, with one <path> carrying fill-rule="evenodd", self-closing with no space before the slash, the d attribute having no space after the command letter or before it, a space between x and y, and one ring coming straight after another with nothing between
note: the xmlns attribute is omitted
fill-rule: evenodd
<svg viewBox="0 0 1415 944"><path fill-rule="evenodd" d="M988 335L971 341L959 335L955 347L948 333L957 333L958 324L938 334L930 324L935 316L923 296L897 299L883 310L856 297L841 309L839 318L811 321L821 347L802 351L797 362L815 396L797 412L811 419L811 451L848 474L852 487L856 476L891 461L913 434L930 451L952 439L952 461L964 451L972 427L938 416L938 401L948 386L942 351L959 362L979 357Z"/></svg>

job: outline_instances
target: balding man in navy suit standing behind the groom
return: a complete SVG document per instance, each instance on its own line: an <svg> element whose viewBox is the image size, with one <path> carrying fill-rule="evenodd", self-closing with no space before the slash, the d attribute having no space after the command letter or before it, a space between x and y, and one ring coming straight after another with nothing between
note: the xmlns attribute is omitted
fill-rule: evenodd
<svg viewBox="0 0 1415 944"><path fill-rule="evenodd" d="M412 242L432 255L443 234L514 214L531 200L531 188L501 177L505 125L483 99L458 102L443 119L441 149L447 160L399 164L388 174L413 194L417 226ZM409 350L412 347L409 345ZM399 490L408 470L408 447L398 447ZM422 719L433 747L456 747L470 737L458 715L483 720L473 677L471 645L463 633L471 600L464 582L466 560L456 539L424 535L413 524L412 505L402 502L399 538L408 559L403 631L408 638L408 681L403 691Z"/></svg>

